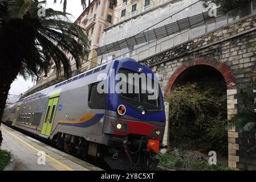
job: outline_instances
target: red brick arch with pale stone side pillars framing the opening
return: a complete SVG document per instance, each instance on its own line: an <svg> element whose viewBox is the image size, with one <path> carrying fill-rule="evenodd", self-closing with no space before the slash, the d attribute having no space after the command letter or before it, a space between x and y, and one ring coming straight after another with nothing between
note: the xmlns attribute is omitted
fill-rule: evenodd
<svg viewBox="0 0 256 182"><path fill-rule="evenodd" d="M227 88L227 119L230 119L233 114L237 113L237 81L235 80L232 72L230 71L229 67L226 64L218 61L216 59L204 59L198 58L192 61L186 61L180 67L174 71L173 75L169 78L169 81L166 85L164 97L167 98L168 94L172 90L173 86L176 84L176 80L178 76L181 75L186 69L196 66L196 65L208 65L212 68L215 68L218 72L221 73L222 77L226 82ZM256 67L255 67L256 69ZM254 81L256 82L256 71L253 77ZM166 115L166 126L165 126L165 134L164 134L164 144L169 144L169 103L165 102L165 111ZM235 139L237 138L238 133L234 130L230 130L228 132L229 137L229 166L236 166L237 156L235 150L237 150L238 144L235 143ZM230 148L230 146L232 146Z"/></svg>

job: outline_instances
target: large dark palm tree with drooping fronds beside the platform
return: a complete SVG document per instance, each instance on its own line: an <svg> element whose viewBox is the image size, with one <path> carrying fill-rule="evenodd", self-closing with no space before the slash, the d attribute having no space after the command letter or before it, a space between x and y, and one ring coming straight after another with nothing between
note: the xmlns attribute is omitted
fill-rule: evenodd
<svg viewBox="0 0 256 182"><path fill-rule="evenodd" d="M72 55L79 69L90 41L84 29L68 22L67 14L46 9L38 16L37 0L0 0L0 118L11 83L18 75L36 78L48 73L52 64L57 73L71 76Z"/></svg>

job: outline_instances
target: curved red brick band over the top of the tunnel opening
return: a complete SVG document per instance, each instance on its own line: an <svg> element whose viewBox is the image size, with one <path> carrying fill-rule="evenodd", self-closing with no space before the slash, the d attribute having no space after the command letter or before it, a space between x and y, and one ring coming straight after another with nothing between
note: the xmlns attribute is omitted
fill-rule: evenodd
<svg viewBox="0 0 256 182"><path fill-rule="evenodd" d="M227 90L237 89L237 81L235 81L235 78L232 72L230 71L229 67L227 67L226 64L222 63L221 61L217 61L215 59L198 58L193 61L187 61L183 63L179 68L176 69L176 71L173 73L173 75L170 77L167 83L165 94L164 94L165 98L170 93L170 90L172 90L177 77L180 76L180 74L184 72L187 68L193 67L194 65L209 65L210 67L217 69L221 73L221 75L224 77Z"/></svg>

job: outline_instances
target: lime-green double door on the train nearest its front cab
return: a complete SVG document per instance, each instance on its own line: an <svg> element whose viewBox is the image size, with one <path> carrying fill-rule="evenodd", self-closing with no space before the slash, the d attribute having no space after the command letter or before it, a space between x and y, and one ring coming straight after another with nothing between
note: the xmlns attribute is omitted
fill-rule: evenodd
<svg viewBox="0 0 256 182"><path fill-rule="evenodd" d="M50 98L48 101L47 109L46 109L46 115L44 117L43 127L41 134L50 136L52 124L54 121L56 108L58 106L59 97Z"/></svg>

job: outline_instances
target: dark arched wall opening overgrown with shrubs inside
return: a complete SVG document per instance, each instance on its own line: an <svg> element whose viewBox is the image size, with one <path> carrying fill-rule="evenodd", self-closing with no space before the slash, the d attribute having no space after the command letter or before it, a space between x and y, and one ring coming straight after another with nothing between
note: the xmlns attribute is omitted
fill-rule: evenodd
<svg viewBox="0 0 256 182"><path fill-rule="evenodd" d="M209 65L194 65L176 78L168 97L170 103L170 146L199 151L216 151L227 159L226 82Z"/></svg>

